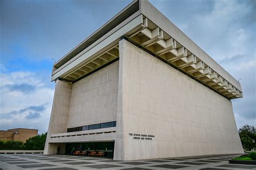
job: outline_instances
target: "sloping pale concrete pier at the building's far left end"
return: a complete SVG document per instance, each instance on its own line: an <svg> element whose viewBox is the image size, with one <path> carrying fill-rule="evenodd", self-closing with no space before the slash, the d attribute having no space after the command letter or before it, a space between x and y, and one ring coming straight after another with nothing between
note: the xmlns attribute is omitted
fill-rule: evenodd
<svg viewBox="0 0 256 170"><path fill-rule="evenodd" d="M60 148L60 154L65 153L65 146L63 144L51 144L48 141L50 135L66 132L66 123L69 118L69 102L71 92L72 84L61 80L56 81L50 123L44 147L44 154L56 154L58 147Z"/></svg>

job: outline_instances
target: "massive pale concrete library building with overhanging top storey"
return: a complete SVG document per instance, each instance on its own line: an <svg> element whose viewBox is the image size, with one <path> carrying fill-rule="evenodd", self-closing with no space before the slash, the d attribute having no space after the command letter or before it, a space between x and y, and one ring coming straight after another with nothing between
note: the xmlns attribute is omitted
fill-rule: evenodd
<svg viewBox="0 0 256 170"><path fill-rule="evenodd" d="M58 60L52 81L44 154L244 152L231 103L240 83L148 1L131 2Z"/></svg>

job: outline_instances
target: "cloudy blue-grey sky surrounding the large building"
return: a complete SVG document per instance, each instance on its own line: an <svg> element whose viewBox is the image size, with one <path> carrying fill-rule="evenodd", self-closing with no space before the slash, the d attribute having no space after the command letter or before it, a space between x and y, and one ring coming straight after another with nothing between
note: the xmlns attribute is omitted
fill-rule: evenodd
<svg viewBox="0 0 256 170"><path fill-rule="evenodd" d="M131 1L0 1L0 130L48 130L53 60L82 42ZM232 100L238 128L256 126L256 1L151 0L188 37L241 79Z"/></svg>

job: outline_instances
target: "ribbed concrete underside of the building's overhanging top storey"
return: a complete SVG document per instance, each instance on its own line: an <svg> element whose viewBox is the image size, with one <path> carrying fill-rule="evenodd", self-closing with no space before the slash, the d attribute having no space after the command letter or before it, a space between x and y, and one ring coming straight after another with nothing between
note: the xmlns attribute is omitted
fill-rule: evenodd
<svg viewBox="0 0 256 170"><path fill-rule="evenodd" d="M242 97L242 93L225 80L225 78L221 77L217 71L214 71L182 44L149 21L149 19L144 17L142 29L136 32L126 33L124 36L134 44L142 46L151 53L154 53L161 59L189 74L194 79L197 79L226 98L234 99ZM115 44L75 71L66 74L63 78L76 81L118 57L118 44Z"/></svg>

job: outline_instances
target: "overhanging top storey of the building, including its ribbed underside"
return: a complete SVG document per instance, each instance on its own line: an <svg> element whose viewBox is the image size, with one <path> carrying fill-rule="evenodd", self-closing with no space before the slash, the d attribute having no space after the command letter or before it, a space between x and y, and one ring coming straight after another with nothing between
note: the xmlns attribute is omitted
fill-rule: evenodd
<svg viewBox="0 0 256 170"><path fill-rule="evenodd" d="M227 99L242 97L240 83L146 0L127 5L55 63L52 80L75 83L118 60L122 37Z"/></svg>

